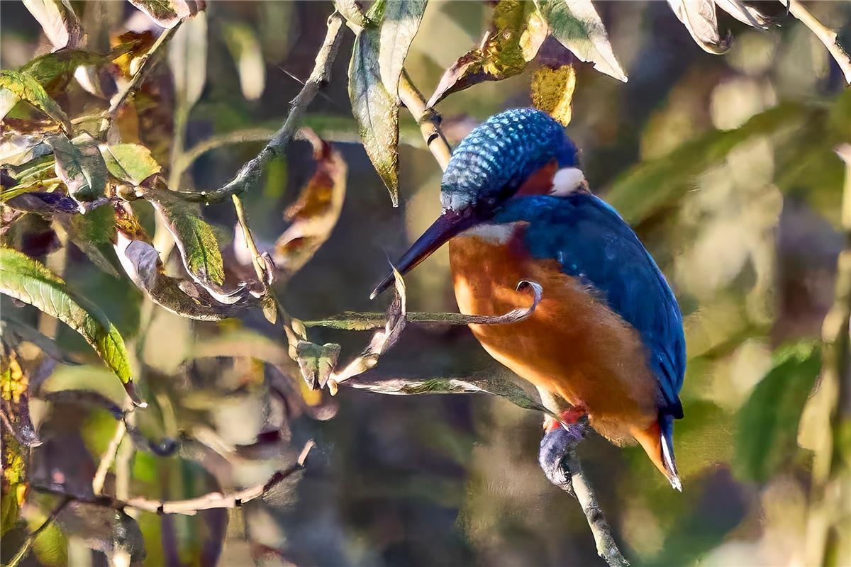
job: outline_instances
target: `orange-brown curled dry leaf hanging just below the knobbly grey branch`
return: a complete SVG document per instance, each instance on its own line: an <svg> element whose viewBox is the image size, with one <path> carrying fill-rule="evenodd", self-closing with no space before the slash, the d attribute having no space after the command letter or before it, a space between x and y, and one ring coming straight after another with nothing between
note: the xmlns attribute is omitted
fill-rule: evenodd
<svg viewBox="0 0 851 567"><path fill-rule="evenodd" d="M340 152L316 139L317 169L284 217L287 230L275 243L275 266L288 278L313 257L334 230L346 196L346 162Z"/></svg>

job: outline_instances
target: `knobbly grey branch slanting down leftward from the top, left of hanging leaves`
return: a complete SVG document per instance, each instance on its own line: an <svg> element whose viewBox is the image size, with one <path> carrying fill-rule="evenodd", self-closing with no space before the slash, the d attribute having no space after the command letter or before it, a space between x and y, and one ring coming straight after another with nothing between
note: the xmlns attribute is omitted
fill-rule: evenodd
<svg viewBox="0 0 851 567"><path fill-rule="evenodd" d="M243 165L236 177L231 179L228 184L214 191L200 191L195 197L196 201L219 203L226 201L231 195L242 195L258 182L260 174L263 173L263 169L271 158L283 155L287 143L293 137L307 111L307 106L316 98L319 89L323 88L331 78L331 67L342 42L343 35L340 30L343 23L343 17L337 12L334 12L328 18L328 32L325 34L325 40L317 53L311 76L305 82L305 86L301 88L300 93L293 99L292 108L287 119L283 122L283 126L275 133L266 147L260 150L260 153L254 159Z"/></svg>

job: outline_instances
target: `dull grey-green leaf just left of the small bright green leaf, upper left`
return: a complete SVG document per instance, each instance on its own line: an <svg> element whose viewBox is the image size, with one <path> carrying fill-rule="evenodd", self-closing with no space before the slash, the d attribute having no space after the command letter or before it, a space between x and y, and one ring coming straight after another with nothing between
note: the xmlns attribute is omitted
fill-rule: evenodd
<svg viewBox="0 0 851 567"><path fill-rule="evenodd" d="M104 196L108 173L94 138L83 133L71 141L56 134L45 141L54 149L56 175L65 182L68 195L77 202Z"/></svg>

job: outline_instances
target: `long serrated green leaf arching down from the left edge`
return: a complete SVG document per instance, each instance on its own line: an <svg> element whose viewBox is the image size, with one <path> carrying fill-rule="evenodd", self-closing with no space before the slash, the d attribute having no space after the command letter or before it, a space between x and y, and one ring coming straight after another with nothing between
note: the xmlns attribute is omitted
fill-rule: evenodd
<svg viewBox="0 0 851 567"><path fill-rule="evenodd" d="M130 399L140 403L123 338L99 308L75 297L59 276L17 250L0 247L0 292L33 305L78 332L121 380Z"/></svg>

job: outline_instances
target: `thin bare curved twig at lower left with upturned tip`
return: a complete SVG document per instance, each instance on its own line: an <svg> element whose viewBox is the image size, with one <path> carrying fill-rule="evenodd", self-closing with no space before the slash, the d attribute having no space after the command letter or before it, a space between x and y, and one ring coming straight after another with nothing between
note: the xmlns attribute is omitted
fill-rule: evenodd
<svg viewBox="0 0 851 567"><path fill-rule="evenodd" d="M186 516L194 516L201 510L241 507L245 502L250 502L255 498L263 496L269 490L283 482L284 479L287 479L292 476L293 473L304 468L307 455L314 446L316 446L316 444L313 442L313 439L307 441L304 448L301 450L298 460L292 466L272 474L271 477L262 485L249 486L248 488L236 490L230 494L210 492L203 496L190 498L188 500L149 500L141 496L129 498L128 500L119 500L113 496L67 494L61 489L51 486L34 486L33 488L40 492L64 496L68 502L83 502L86 504L95 504L97 506L111 507L116 510L132 508L134 510L141 510L142 512L157 514L179 513Z"/></svg>

